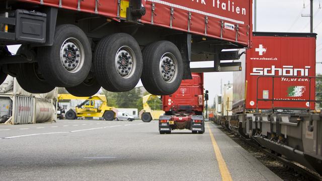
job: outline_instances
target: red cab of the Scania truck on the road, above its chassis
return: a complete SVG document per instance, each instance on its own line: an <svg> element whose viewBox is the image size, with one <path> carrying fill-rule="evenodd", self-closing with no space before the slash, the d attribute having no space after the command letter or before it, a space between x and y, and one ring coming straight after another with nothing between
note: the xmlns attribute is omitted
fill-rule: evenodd
<svg viewBox="0 0 322 181"><path fill-rule="evenodd" d="M203 111L203 73L192 73L192 79L182 80L178 90L163 96L163 110L170 111L178 106L191 106L193 111Z"/></svg>

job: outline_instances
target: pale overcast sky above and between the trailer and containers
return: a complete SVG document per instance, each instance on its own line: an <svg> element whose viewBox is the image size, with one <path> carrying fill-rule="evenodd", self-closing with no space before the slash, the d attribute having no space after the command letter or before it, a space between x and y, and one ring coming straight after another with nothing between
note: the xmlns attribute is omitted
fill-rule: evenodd
<svg viewBox="0 0 322 181"><path fill-rule="evenodd" d="M322 9L319 8L319 3L322 4L322 0L313 0L313 32L317 33L316 61L322 62ZM309 0L257 0L257 31L309 32L309 17L301 17L301 14L310 13L309 6ZM320 6L322 8L322 5ZM17 51L16 49L17 47L10 48L13 53ZM212 63L209 62L209 65L211 66ZM195 64L192 67L195 67ZM322 73L321 63L316 65L316 72ZM223 84L232 82L232 72L205 73L204 86L209 90L210 106L213 104L214 97L220 94L220 80ZM141 85L139 82L137 86Z"/></svg>

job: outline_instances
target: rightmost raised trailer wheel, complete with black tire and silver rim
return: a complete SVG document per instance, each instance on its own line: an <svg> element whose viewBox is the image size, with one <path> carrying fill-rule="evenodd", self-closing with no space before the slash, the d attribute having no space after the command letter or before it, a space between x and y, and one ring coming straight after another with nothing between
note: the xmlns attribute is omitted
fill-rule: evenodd
<svg viewBox="0 0 322 181"><path fill-rule="evenodd" d="M141 81L153 95L170 95L177 91L183 77L183 60L178 47L169 41L158 41L142 52Z"/></svg>

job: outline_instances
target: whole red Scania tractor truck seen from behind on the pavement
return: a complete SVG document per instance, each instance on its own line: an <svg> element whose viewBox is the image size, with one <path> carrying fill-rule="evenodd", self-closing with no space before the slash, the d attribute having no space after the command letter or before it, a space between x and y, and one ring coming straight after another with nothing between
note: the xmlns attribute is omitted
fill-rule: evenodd
<svg viewBox="0 0 322 181"><path fill-rule="evenodd" d="M192 73L191 80L183 80L177 92L163 96L164 116L159 118L160 134L175 129L188 129L192 133L204 133L203 73Z"/></svg>

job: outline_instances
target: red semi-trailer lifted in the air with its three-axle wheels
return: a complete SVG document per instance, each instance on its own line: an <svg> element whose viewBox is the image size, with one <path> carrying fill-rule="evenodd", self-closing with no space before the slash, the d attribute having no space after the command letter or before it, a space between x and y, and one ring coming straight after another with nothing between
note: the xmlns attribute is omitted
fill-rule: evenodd
<svg viewBox="0 0 322 181"><path fill-rule="evenodd" d="M7 0L0 1L0 82L17 77L31 93L66 87L91 96L102 86L170 95L202 71L234 71L235 50L252 42L252 1ZM16 55L7 45L22 44Z"/></svg>

